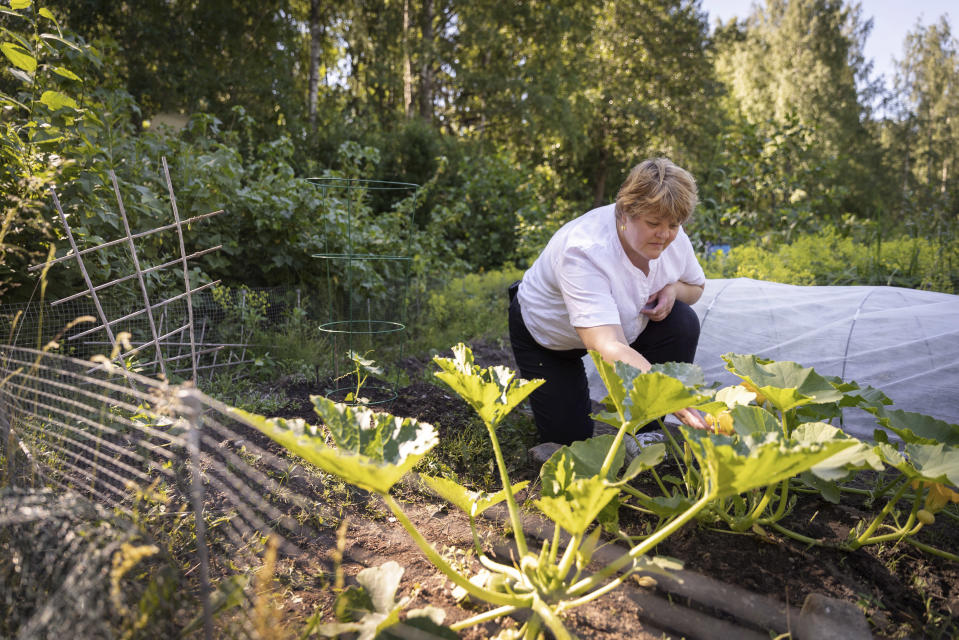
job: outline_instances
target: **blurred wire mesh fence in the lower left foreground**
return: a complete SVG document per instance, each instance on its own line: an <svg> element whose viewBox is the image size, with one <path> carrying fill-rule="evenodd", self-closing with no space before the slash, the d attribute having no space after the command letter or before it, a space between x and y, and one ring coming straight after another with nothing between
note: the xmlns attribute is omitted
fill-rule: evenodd
<svg viewBox="0 0 959 640"><path fill-rule="evenodd" d="M191 386L98 361L0 347L0 637L269 635L278 563L326 571L304 553L329 546L326 479Z"/></svg>

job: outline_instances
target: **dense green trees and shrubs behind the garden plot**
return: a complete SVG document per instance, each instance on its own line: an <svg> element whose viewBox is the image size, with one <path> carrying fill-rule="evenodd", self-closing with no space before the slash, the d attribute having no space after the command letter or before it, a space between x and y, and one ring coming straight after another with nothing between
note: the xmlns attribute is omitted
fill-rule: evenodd
<svg viewBox="0 0 959 640"><path fill-rule="evenodd" d="M862 54L869 22L845 0L767 0L713 30L694 0L0 7L3 302L35 296L26 267L69 249L52 186L82 248L121 229L111 170L134 231L169 220L163 156L181 215L227 212L191 234L190 250L223 245L199 282L318 289L313 255L347 242L411 256L418 290L522 269L663 154L698 178L689 232L711 275L959 283L945 19L910 33L883 94ZM423 188L348 203L311 176ZM173 244L138 250L160 261ZM120 275L123 251L93 279ZM76 270L57 269L48 295L75 290ZM163 277L152 284L176 286ZM388 280L360 279L385 296Z"/></svg>

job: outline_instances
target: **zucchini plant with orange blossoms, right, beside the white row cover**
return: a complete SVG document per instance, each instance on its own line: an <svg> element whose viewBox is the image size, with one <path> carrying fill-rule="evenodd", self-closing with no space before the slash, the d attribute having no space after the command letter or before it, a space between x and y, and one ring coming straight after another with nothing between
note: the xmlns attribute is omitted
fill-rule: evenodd
<svg viewBox="0 0 959 640"><path fill-rule="evenodd" d="M815 491L833 503L839 502L843 493L861 494L870 504L882 499L885 503L853 527L848 539L838 546L852 551L866 544L904 540L929 553L959 560L956 554L915 538L940 512L957 519L954 509L947 507L959 502L959 492L953 488L959 484L959 427L890 409L892 401L877 389L827 378L795 362L739 354L727 354L723 359L727 370L742 382L718 391L701 389L712 397L696 405L719 435L709 437L710 444L704 444L702 435L690 434L681 444L667 430L666 442L680 469L679 477L660 479L652 470L662 495L652 497L632 490L640 508L666 522L703 495L704 446L723 443L746 452L767 440L794 444L843 440L848 446L836 455L798 475L786 474L778 483L717 499L698 518L723 523L732 531L753 530L760 535L765 535L764 527L770 527L805 544L823 545L826 543L821 540L780 524L795 503L795 493ZM688 369L689 383L699 389L703 381L695 377L695 368L669 365L674 369L683 366ZM843 411L850 407L877 417L875 442L853 438L829 423L841 420ZM887 431L899 437L901 446L890 442ZM860 471L876 472L883 480L871 491L855 487L852 480Z"/></svg>

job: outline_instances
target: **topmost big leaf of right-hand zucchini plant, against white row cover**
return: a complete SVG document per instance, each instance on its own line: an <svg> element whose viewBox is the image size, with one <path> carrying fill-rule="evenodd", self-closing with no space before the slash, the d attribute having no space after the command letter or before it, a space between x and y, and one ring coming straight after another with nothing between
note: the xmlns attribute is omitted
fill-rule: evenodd
<svg viewBox="0 0 959 640"><path fill-rule="evenodd" d="M727 353L726 369L749 383L780 411L804 404L839 402L843 394L811 367Z"/></svg>

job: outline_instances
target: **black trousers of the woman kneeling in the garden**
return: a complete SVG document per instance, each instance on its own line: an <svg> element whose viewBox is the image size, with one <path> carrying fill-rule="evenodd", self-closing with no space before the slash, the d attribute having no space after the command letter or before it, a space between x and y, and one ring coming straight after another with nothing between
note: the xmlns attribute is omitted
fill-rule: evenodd
<svg viewBox="0 0 959 640"><path fill-rule="evenodd" d="M529 397L540 440L571 444L592 437L589 385L582 360L586 349L556 351L537 343L523 322L515 290L510 293L509 339L520 376L546 380ZM666 318L647 323L629 346L659 364L692 362L698 343L699 318L692 307L677 300Z"/></svg>

